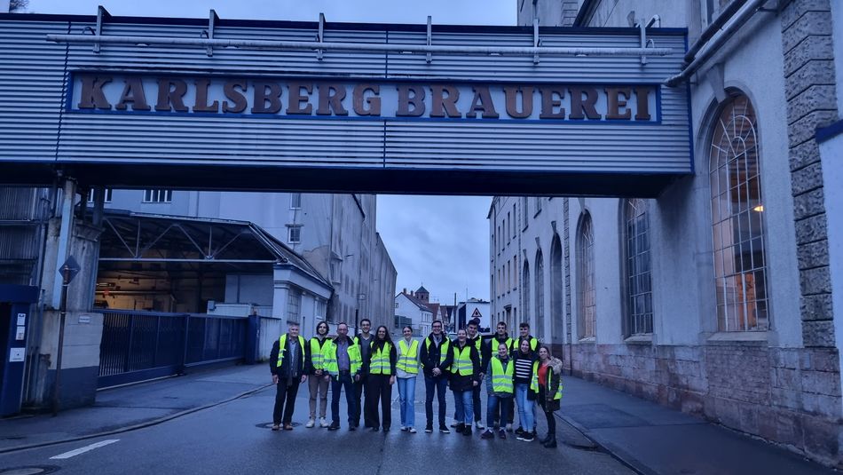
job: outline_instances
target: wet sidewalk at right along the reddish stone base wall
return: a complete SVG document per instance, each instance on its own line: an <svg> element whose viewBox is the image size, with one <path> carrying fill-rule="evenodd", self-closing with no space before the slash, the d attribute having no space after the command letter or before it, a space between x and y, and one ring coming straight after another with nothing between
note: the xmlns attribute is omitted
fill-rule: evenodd
<svg viewBox="0 0 843 475"><path fill-rule="evenodd" d="M839 473L758 439L577 377L563 378L557 413L635 471Z"/></svg>

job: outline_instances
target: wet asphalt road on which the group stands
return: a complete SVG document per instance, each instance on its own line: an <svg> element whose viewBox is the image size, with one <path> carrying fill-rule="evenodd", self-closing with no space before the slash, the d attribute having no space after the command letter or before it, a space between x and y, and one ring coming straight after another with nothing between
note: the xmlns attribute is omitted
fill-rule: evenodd
<svg viewBox="0 0 843 475"><path fill-rule="evenodd" d="M388 434L348 431L344 405L340 431L306 429L306 387L302 390L294 417L299 425L294 431L269 430L275 390L268 388L145 429L0 455L0 474L36 473L9 471L22 467L46 467L62 474L633 473L611 455L563 444L548 449L538 441L528 443L511 436L485 440L478 431L470 438L456 433L402 432L397 403ZM417 400L422 393L423 389L417 391ZM453 416L453 399L449 400L448 416ZM424 407L416 403L416 428L423 426ZM544 421L540 421L540 434L543 431ZM77 449L83 448L89 450L79 453ZM56 456L63 458L51 458Z"/></svg>

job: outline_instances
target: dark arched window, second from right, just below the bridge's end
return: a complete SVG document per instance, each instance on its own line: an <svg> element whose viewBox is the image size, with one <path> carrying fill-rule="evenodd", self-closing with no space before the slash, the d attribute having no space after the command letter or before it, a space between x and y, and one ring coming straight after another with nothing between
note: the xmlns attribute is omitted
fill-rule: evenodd
<svg viewBox="0 0 843 475"><path fill-rule="evenodd" d="M653 293L650 277L650 223L647 202L624 202L624 256L626 273L626 336L653 332Z"/></svg>

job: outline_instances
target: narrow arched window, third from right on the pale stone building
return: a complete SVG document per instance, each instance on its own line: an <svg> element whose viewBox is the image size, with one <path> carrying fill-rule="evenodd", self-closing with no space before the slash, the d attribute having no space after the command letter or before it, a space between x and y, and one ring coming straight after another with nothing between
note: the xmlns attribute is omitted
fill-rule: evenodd
<svg viewBox="0 0 843 475"><path fill-rule="evenodd" d="M595 289L595 233L591 215L585 213L577 235L577 288L579 289L579 337L595 337L597 292Z"/></svg>

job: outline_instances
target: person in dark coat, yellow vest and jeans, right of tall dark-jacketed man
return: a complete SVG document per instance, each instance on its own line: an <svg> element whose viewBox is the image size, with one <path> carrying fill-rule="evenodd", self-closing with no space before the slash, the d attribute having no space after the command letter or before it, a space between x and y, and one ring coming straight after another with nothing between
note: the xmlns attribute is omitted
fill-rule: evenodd
<svg viewBox="0 0 843 475"><path fill-rule="evenodd" d="M474 420L473 391L480 384L480 354L477 347L469 344L465 329L457 331L457 339L452 344L451 391L457 407L457 432L471 435Z"/></svg>

